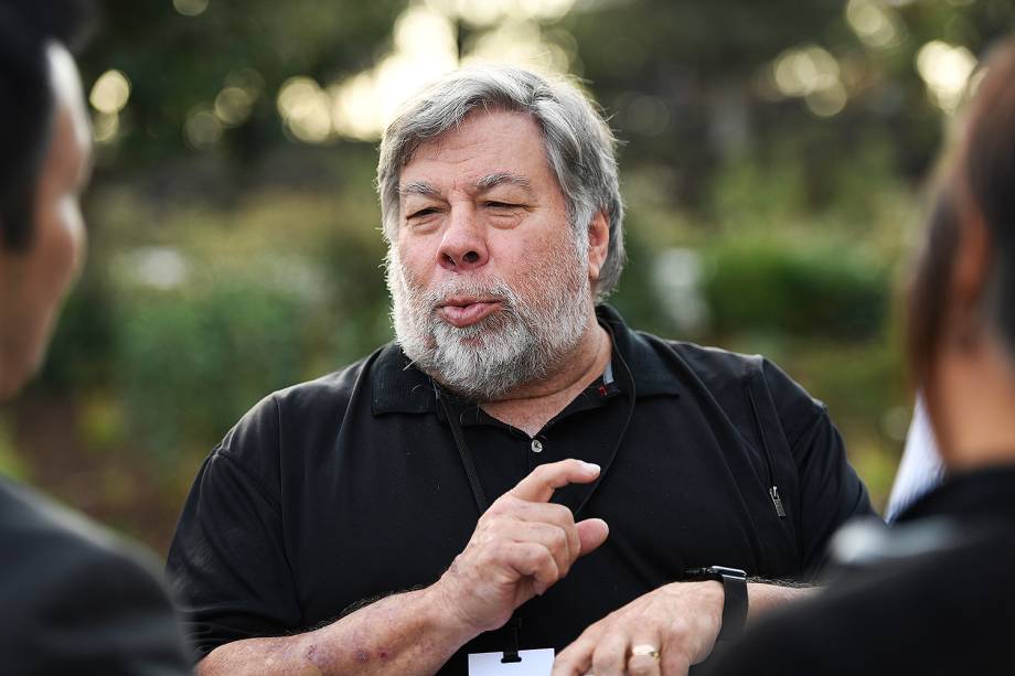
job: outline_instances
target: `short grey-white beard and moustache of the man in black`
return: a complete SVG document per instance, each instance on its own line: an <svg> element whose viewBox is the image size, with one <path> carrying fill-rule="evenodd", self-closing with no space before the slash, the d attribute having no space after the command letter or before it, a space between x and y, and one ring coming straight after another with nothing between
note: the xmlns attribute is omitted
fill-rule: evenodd
<svg viewBox="0 0 1015 676"><path fill-rule="evenodd" d="M501 279L462 275L421 289L405 273L398 249L387 257L392 320L402 350L450 390L492 401L545 377L577 348L590 323L591 286L584 247L573 242L530 268L527 292ZM452 296L495 298L502 307L457 329L438 314Z"/></svg>

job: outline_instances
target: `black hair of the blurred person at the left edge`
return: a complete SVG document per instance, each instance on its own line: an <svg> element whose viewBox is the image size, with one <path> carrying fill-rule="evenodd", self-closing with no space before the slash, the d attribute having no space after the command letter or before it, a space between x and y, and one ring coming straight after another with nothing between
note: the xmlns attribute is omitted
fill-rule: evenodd
<svg viewBox="0 0 1015 676"><path fill-rule="evenodd" d="M35 183L54 112L46 43L78 47L90 19L86 0L0 2L0 246L23 249L32 240Z"/></svg>

